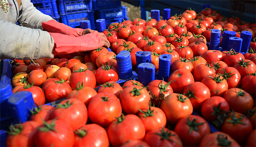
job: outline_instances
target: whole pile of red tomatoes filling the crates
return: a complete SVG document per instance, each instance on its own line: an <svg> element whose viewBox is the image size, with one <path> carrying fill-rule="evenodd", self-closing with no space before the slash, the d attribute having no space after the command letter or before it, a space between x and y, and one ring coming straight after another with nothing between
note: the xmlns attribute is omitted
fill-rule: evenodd
<svg viewBox="0 0 256 147"><path fill-rule="evenodd" d="M111 50L14 60L13 92L31 91L29 121L11 125L7 146L255 146L256 24L205 8L168 20L113 23ZM247 53L208 50L211 29L252 33ZM115 56L171 54L168 81L121 86ZM96 91L94 88L99 87ZM67 98L55 107L43 105ZM193 115L195 111L201 116ZM211 133L209 124L219 132Z"/></svg>

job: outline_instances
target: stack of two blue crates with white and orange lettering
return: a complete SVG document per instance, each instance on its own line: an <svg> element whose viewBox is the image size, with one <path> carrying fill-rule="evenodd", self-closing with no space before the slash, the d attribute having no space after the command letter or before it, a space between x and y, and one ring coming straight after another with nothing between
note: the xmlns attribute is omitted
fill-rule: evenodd
<svg viewBox="0 0 256 147"><path fill-rule="evenodd" d="M60 21L72 28L80 27L80 21L90 20L92 29L96 29L91 0L58 0Z"/></svg>

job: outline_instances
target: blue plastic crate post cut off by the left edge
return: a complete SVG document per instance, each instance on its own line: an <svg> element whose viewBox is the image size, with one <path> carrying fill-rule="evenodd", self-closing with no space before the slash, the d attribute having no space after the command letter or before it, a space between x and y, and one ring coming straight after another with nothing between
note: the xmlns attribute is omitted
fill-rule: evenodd
<svg viewBox="0 0 256 147"><path fill-rule="evenodd" d="M10 106L8 104L8 99L13 95L12 92L12 86L9 84L0 84L0 118L1 118L1 124L2 121L12 118L12 113Z"/></svg>

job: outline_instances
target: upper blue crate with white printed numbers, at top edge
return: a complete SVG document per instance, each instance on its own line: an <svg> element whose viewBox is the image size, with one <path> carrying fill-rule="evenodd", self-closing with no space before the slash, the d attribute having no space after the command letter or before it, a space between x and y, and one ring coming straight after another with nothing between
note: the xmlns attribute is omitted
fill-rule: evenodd
<svg viewBox="0 0 256 147"><path fill-rule="evenodd" d="M91 12L93 4L91 0L58 0L60 15Z"/></svg>

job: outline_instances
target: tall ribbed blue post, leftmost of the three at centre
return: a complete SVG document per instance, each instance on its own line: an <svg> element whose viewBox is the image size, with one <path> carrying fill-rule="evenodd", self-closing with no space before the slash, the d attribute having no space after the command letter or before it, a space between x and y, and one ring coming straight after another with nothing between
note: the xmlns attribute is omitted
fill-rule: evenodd
<svg viewBox="0 0 256 147"><path fill-rule="evenodd" d="M117 70L119 79L127 80L132 78L132 60L131 54L127 50L122 50L116 55Z"/></svg>

